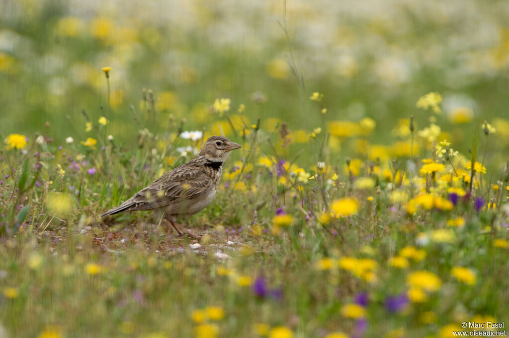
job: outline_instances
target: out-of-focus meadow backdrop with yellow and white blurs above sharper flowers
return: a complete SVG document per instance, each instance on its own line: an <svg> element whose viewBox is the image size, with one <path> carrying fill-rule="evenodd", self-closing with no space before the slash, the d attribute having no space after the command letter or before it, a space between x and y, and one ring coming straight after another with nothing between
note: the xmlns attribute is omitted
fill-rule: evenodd
<svg viewBox="0 0 509 338"><path fill-rule="evenodd" d="M442 130L458 109L475 125L507 114L504 0L7 0L0 20L4 137L44 133L48 121L56 141L84 139L81 111L94 122L105 114L105 66L108 133L124 140L137 135L129 107L143 114L143 88L153 90L161 128L173 114L184 129L210 133L222 97L232 112L245 104L250 123L278 117L313 130L321 126L314 91L325 95L326 119L369 116L380 135L429 91L444 97Z"/></svg>

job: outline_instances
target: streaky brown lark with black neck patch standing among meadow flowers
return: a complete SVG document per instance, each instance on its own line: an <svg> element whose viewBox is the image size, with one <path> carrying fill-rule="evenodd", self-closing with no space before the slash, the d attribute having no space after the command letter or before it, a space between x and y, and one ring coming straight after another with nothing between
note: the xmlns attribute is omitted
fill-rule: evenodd
<svg viewBox="0 0 509 338"><path fill-rule="evenodd" d="M222 175L224 161L230 151L241 146L226 137L207 139L195 159L163 174L148 187L116 208L101 215L105 217L126 211L159 210L163 218L177 231L193 239L200 239L176 221L202 211L214 198Z"/></svg>

